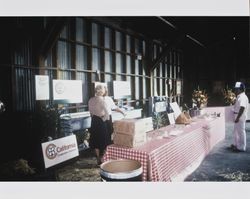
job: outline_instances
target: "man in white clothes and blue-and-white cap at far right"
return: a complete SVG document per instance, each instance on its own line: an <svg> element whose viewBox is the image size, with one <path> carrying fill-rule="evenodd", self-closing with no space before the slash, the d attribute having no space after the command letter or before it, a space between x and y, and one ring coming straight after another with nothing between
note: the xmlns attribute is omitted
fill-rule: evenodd
<svg viewBox="0 0 250 199"><path fill-rule="evenodd" d="M245 85L242 82L235 83L235 93L237 95L234 104L234 144L231 148L234 152L246 151L246 120L249 100L245 94Z"/></svg>

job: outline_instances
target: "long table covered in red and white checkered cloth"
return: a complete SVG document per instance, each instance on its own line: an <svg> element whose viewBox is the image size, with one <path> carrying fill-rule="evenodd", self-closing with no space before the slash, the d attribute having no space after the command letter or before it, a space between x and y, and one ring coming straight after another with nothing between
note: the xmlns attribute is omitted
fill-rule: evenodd
<svg viewBox="0 0 250 199"><path fill-rule="evenodd" d="M225 108L204 108L189 125L168 125L147 132L147 142L128 148L109 145L104 161L133 159L141 163L143 181L183 181L225 138Z"/></svg>

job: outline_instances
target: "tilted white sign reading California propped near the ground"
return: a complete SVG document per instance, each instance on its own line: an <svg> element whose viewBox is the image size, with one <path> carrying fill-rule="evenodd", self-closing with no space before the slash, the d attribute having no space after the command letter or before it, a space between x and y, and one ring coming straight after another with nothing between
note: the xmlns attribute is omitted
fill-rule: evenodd
<svg viewBox="0 0 250 199"><path fill-rule="evenodd" d="M75 135L42 143L45 168L49 168L79 155Z"/></svg>

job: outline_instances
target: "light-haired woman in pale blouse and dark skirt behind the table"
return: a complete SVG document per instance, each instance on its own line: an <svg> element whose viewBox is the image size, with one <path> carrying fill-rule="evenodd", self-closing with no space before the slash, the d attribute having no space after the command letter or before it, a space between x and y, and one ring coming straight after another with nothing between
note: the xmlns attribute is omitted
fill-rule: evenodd
<svg viewBox="0 0 250 199"><path fill-rule="evenodd" d="M111 144L106 122L109 120L109 112L103 97L104 94L104 86L97 85L95 96L90 98L88 102L91 114L90 148L95 150L98 165L101 164L101 156L105 152L107 145Z"/></svg>

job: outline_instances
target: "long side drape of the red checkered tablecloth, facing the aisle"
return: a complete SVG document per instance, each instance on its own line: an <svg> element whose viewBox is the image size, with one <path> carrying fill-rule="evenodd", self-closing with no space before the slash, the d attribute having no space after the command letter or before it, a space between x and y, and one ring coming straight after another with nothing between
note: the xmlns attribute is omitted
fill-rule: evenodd
<svg viewBox="0 0 250 199"><path fill-rule="evenodd" d="M159 150L150 153L152 181L171 181L207 151L207 138L200 129L166 142Z"/></svg>

